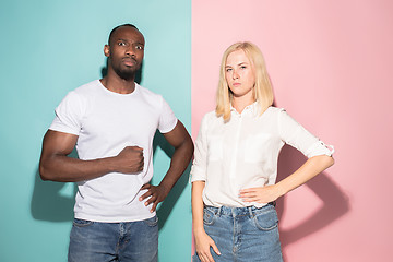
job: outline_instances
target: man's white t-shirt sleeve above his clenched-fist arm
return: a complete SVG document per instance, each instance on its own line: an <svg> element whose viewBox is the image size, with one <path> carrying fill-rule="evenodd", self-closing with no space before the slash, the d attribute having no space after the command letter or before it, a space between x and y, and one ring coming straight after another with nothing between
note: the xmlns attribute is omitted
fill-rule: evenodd
<svg viewBox="0 0 393 262"><path fill-rule="evenodd" d="M75 92L70 92L55 109L56 117L49 129L79 135L83 111L81 97Z"/></svg>

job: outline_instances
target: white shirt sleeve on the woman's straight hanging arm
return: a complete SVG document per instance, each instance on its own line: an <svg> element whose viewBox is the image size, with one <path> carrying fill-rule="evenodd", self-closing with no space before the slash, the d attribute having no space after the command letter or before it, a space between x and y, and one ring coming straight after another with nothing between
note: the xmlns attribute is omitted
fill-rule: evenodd
<svg viewBox="0 0 393 262"><path fill-rule="evenodd" d="M195 140L194 159L190 171L190 182L206 180L207 166L207 117L204 116Z"/></svg>

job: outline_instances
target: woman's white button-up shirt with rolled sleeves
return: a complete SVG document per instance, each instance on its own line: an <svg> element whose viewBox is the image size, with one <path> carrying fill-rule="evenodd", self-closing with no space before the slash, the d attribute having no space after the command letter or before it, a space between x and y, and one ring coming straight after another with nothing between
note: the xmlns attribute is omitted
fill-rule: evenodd
<svg viewBox="0 0 393 262"><path fill-rule="evenodd" d="M275 183L285 143L307 157L333 153L284 109L269 107L260 116L254 103L241 114L233 108L227 123L211 111L202 119L195 141L191 182L205 181L202 198L206 205L261 207L264 204L242 202L239 190Z"/></svg>

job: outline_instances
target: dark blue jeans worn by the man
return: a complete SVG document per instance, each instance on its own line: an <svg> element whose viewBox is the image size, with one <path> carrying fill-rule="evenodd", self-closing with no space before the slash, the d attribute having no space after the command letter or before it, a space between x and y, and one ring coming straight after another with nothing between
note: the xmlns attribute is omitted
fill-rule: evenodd
<svg viewBox="0 0 393 262"><path fill-rule="evenodd" d="M156 262L158 218L124 223L74 219L69 262Z"/></svg>

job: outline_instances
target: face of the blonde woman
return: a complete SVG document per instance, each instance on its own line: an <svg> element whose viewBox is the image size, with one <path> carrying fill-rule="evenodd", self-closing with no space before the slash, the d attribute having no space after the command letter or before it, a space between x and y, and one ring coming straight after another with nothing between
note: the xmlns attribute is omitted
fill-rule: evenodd
<svg viewBox="0 0 393 262"><path fill-rule="evenodd" d="M243 50L239 49L229 53L225 64L225 78L234 98L250 97L254 99L254 70Z"/></svg>

